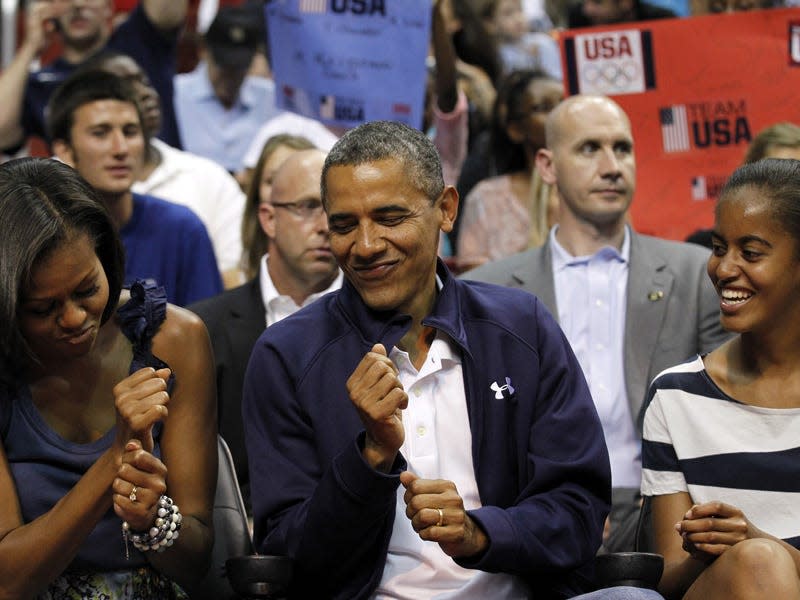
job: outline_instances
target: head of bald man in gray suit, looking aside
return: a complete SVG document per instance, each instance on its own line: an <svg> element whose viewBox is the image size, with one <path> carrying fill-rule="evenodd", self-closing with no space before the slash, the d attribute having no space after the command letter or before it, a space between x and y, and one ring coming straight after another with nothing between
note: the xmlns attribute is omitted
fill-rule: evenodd
<svg viewBox="0 0 800 600"><path fill-rule="evenodd" d="M561 196L559 220L619 227L633 199L633 135L622 109L607 98L573 96L552 113L549 149L540 150L542 179ZM552 133L552 135L551 135Z"/></svg>

